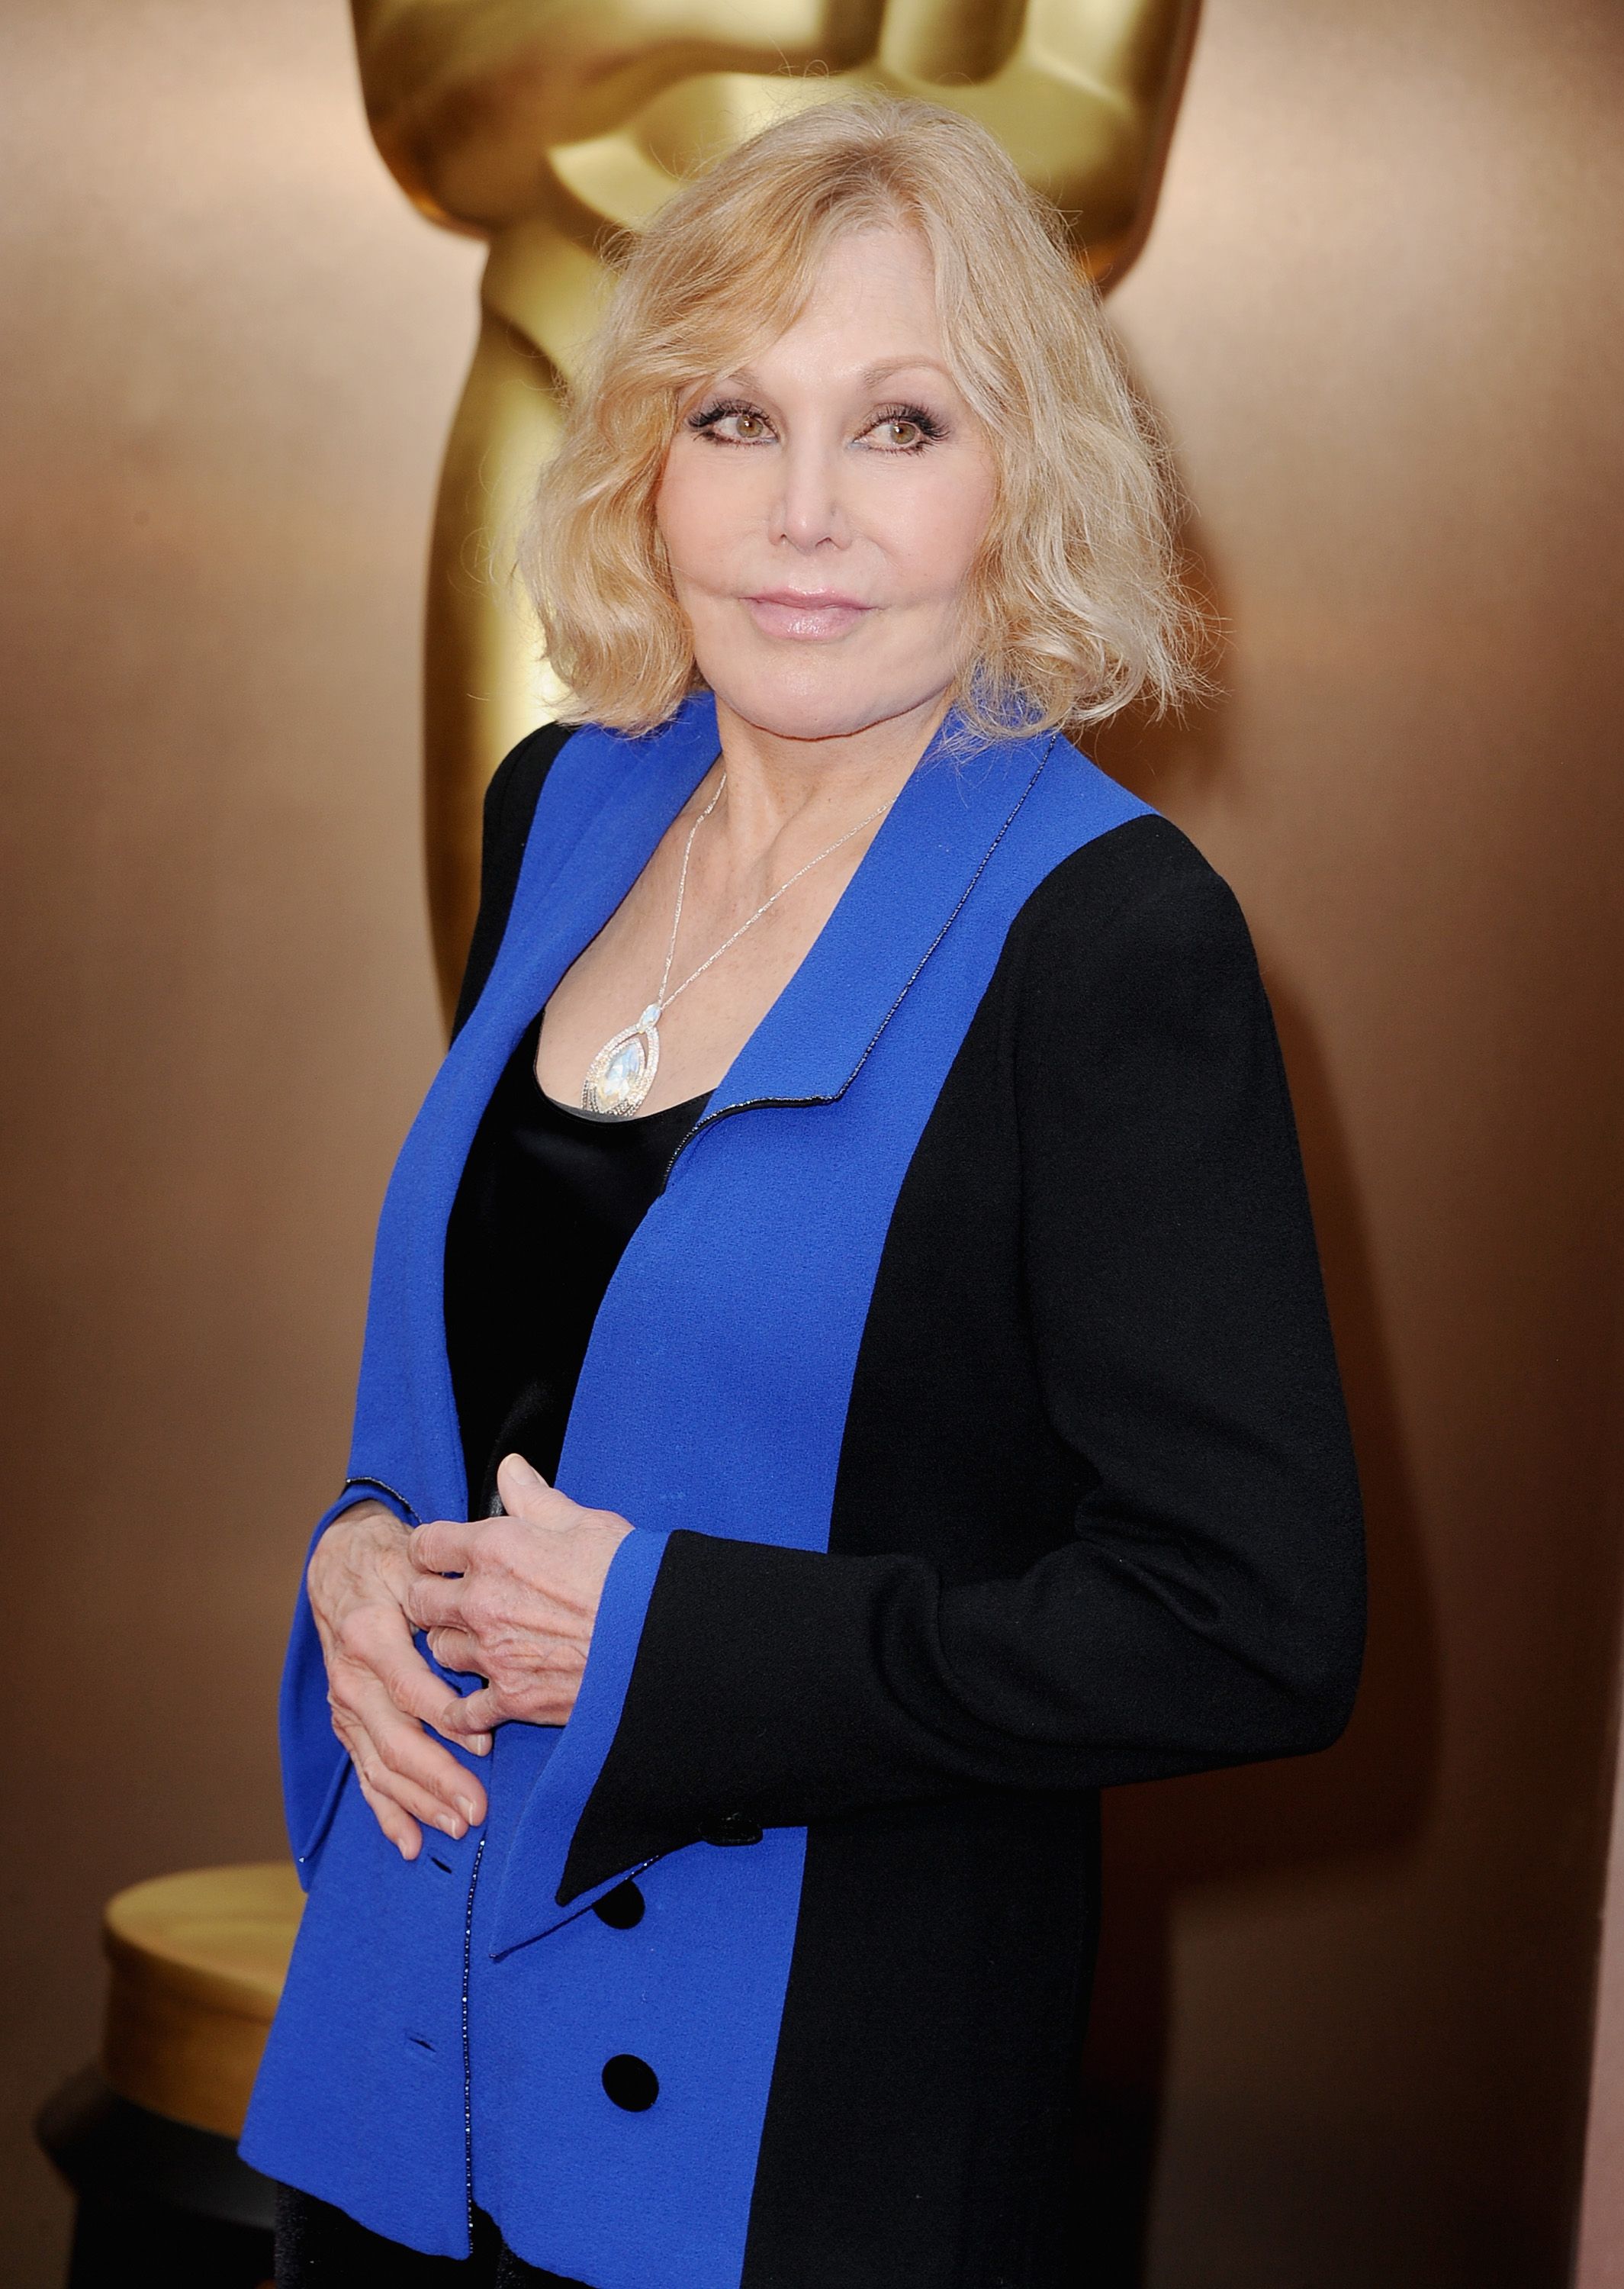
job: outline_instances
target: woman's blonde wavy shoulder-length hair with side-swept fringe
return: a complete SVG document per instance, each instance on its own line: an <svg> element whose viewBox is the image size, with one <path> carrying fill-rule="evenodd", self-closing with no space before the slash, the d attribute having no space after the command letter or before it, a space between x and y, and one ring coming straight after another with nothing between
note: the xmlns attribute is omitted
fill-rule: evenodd
<svg viewBox="0 0 1624 2289"><path fill-rule="evenodd" d="M519 547L565 721L650 730L702 689L654 522L679 412L794 323L837 238L885 224L929 247L945 355L997 465L954 684L970 730L1201 689L1167 453L1061 217L972 119L876 96L764 128L627 243Z"/></svg>

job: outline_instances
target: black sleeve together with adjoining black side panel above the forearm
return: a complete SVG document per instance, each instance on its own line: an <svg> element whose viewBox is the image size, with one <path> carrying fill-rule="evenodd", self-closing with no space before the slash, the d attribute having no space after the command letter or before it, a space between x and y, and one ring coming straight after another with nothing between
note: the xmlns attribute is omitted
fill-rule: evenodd
<svg viewBox="0 0 1624 2289"><path fill-rule="evenodd" d="M560 1898L721 1813L1327 1747L1359 1490L1274 1023L1162 819L1034 893L881 1259L830 1554L672 1534Z"/></svg>

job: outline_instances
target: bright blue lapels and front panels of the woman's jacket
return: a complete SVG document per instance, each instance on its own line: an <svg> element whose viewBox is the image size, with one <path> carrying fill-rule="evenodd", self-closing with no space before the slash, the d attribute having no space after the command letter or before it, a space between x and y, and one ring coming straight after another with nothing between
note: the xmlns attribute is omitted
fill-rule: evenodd
<svg viewBox="0 0 1624 2289"><path fill-rule="evenodd" d="M467 1502L441 1254L480 1110L714 753L707 700L652 739L581 732L563 749L508 938L400 1156L352 1472L400 1488L421 1518ZM592 1916L592 1895L558 1900L563 1861L666 1534L826 1547L897 1190L1009 922L1064 856L1141 808L1052 739L926 758L894 803L599 1309L558 1483L638 1531L611 1568L576 1714L563 1735L501 1728L483 1838L430 1838L412 1868L339 1788L245 2145L258 2168L414 2248L464 2250L469 2147L441 2094L441 2012L455 1998L460 2017L467 1962L473 2184L508 2243L595 2289L737 2282L805 1836L668 1854L638 1872L647 1911L629 1932ZM695 1660L725 1650L695 1646ZM316 1721L320 1682L309 1662L297 1676L295 1733ZM659 2076L645 2113L604 2094L622 2051ZM460 2108L460 2078L444 2078Z"/></svg>

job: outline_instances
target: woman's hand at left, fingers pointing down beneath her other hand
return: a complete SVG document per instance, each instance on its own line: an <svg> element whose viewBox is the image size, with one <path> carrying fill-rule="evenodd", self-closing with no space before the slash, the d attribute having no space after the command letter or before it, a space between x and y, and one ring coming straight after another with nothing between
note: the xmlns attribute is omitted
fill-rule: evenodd
<svg viewBox="0 0 1624 2289"><path fill-rule="evenodd" d="M332 1728L350 1751L361 1795L400 1859L416 1859L423 1827L464 1836L485 1817L485 1790L435 1726L476 1756L489 1733L455 1733L457 1694L412 1644L405 1595L416 1579L403 1527L382 1502L357 1502L327 1527L307 1586L327 1662Z"/></svg>

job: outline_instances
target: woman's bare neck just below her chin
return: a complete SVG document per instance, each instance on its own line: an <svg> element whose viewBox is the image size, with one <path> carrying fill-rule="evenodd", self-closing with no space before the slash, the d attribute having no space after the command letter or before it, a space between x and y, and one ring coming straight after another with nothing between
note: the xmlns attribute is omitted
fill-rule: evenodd
<svg viewBox="0 0 1624 2289"><path fill-rule="evenodd" d="M947 714L938 691L883 723L828 739L787 739L716 698L727 771L727 838L762 847L796 819L839 829L901 792Z"/></svg>

